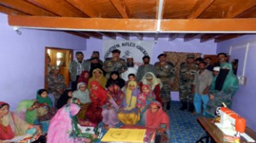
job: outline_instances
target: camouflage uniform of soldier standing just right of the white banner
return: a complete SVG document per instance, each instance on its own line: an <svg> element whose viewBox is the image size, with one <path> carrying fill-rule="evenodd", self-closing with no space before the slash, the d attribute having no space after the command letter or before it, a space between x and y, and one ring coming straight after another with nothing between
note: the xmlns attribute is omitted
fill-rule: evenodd
<svg viewBox="0 0 256 143"><path fill-rule="evenodd" d="M163 103L171 101L171 85L170 82L174 81L174 65L171 62L165 62L164 65L160 65L160 62L154 64L156 77L160 78L163 83L161 89L161 100Z"/></svg>

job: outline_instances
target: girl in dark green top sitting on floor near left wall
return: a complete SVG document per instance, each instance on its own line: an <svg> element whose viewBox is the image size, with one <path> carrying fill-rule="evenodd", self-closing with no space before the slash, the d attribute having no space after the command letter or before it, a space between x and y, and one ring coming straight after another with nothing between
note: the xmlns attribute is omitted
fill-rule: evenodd
<svg viewBox="0 0 256 143"><path fill-rule="evenodd" d="M44 107L46 109L44 116L38 117L38 122L50 120L51 117L55 115L55 109L53 107L52 101L48 96L48 91L46 89L39 89L37 100L39 102L39 107Z"/></svg>

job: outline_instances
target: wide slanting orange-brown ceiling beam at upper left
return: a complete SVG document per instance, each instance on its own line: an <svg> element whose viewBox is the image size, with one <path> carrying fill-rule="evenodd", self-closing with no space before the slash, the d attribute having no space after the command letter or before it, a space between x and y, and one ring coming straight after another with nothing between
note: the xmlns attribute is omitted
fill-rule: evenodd
<svg viewBox="0 0 256 143"><path fill-rule="evenodd" d="M30 3L38 5L44 9L49 10L50 12L57 14L59 16L66 17L81 17L86 14L79 11L79 9L74 8L72 5L63 0L54 0L54 1L45 1L45 0L26 0Z"/></svg>

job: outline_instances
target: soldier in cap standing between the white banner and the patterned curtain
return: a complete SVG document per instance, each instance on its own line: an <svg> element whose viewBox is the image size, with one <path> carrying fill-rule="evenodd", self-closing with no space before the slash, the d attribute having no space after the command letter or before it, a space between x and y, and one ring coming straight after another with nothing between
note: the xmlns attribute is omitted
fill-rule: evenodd
<svg viewBox="0 0 256 143"><path fill-rule="evenodd" d="M159 62L154 64L154 69L156 71L156 77L160 78L163 83L163 88L160 91L161 100L165 109L170 110L171 88L175 78L174 65L172 62L166 61L166 54L160 54L157 58Z"/></svg>

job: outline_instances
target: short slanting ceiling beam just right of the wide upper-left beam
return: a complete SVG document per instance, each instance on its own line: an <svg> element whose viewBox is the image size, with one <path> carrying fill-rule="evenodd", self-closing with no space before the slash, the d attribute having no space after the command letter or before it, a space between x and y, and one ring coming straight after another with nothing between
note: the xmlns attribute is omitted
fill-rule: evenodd
<svg viewBox="0 0 256 143"><path fill-rule="evenodd" d="M96 9L89 4L88 1L84 0L66 0L68 3L73 4L74 7L81 10L84 14L87 14L89 17L100 17L100 14Z"/></svg>

